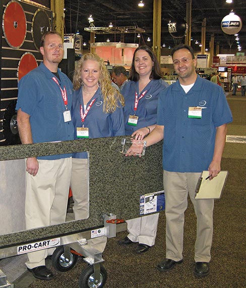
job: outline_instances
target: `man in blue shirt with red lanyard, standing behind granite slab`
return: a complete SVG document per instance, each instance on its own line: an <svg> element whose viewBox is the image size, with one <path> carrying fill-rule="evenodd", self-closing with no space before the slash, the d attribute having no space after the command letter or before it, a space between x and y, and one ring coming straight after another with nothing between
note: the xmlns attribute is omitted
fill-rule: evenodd
<svg viewBox="0 0 246 288"><path fill-rule="evenodd" d="M43 62L22 77L18 85L16 110L21 142L73 140L73 85L57 69L64 55L61 36L56 32L43 35L40 52ZM71 171L71 154L27 158L26 229L65 222ZM45 266L47 255L47 249L28 253L27 269L36 278L53 278Z"/></svg>

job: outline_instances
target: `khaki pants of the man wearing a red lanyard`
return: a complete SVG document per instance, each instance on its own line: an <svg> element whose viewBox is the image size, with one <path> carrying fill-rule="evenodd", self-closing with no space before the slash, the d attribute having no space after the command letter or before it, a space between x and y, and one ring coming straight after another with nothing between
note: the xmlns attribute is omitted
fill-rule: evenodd
<svg viewBox="0 0 246 288"><path fill-rule="evenodd" d="M67 214L72 158L38 160L36 176L26 172L26 229L64 223ZM48 250L28 253L26 265L45 265Z"/></svg>

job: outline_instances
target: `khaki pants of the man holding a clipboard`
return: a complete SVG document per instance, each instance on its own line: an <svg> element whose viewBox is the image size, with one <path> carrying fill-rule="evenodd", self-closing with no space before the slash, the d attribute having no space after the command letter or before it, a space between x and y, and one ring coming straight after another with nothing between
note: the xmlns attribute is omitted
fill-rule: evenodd
<svg viewBox="0 0 246 288"><path fill-rule="evenodd" d="M188 207L188 194L197 216L195 261L209 262L211 259L214 200L195 200L195 189L200 175L201 173L163 171L168 259L182 259L184 211Z"/></svg>

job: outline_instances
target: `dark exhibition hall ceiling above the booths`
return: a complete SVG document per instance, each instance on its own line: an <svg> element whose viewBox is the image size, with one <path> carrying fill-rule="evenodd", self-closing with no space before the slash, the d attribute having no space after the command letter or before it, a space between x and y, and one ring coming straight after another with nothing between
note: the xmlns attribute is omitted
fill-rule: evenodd
<svg viewBox="0 0 246 288"><path fill-rule="evenodd" d="M168 32L168 22L174 19L186 20L186 6L188 0L163 0L161 8L161 45L174 46L174 39ZM65 27L66 34L79 33L83 42L87 43L90 33L84 28L90 26L88 17L91 15L95 27L108 27L110 22L114 27L132 26L145 30L138 35L124 33L125 43L146 44L152 46L153 32L153 0L143 0L144 7L138 7L139 0L65 0ZM192 0L192 46L197 50L201 43L202 22L206 19L206 48L209 48L211 35L214 34L214 45L221 48L237 50L234 35L222 32L220 25L222 19L233 12L240 17L242 28L239 32L239 44L242 51L246 48L246 1L233 0L231 4L226 0ZM186 21L188 22L188 21ZM115 30L112 30L115 31ZM96 34L95 42L119 42L120 34ZM140 37L137 37L140 36ZM150 41L147 41L147 39ZM195 44L195 42L198 42ZM201 49L201 48L200 48Z"/></svg>

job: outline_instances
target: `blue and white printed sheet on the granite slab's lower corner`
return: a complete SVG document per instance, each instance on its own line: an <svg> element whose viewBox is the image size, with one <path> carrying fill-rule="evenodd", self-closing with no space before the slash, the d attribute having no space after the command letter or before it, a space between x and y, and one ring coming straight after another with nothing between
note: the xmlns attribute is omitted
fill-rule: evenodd
<svg viewBox="0 0 246 288"><path fill-rule="evenodd" d="M165 210L164 190L140 196L140 215Z"/></svg>

